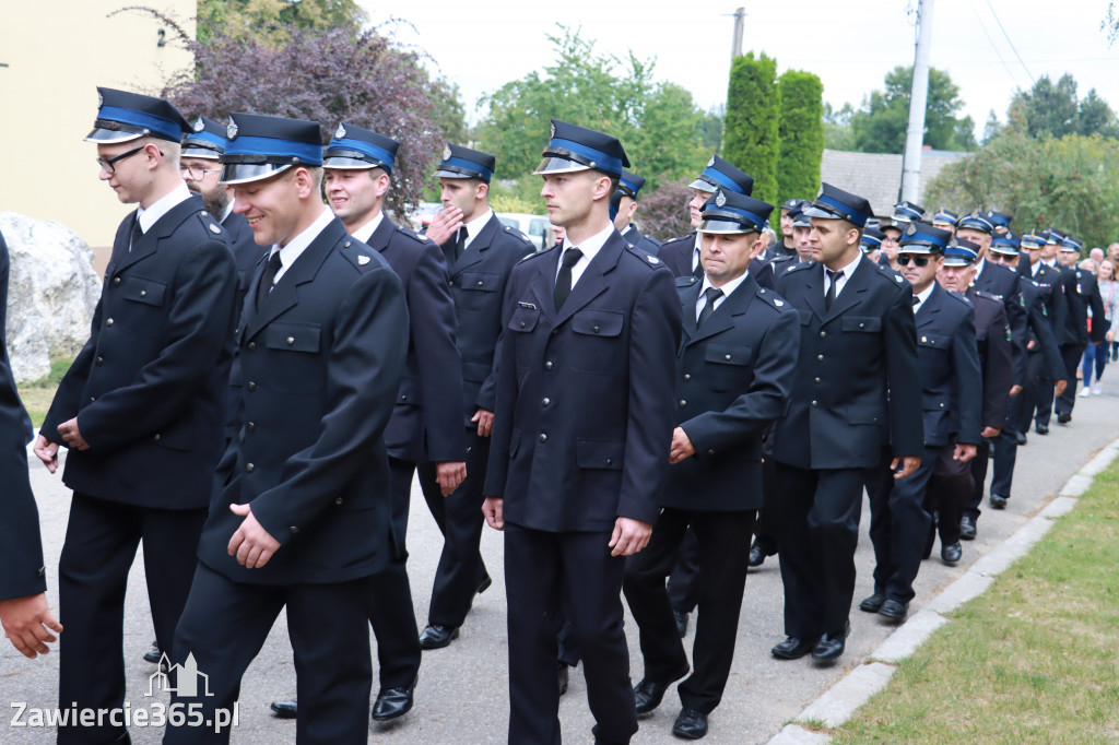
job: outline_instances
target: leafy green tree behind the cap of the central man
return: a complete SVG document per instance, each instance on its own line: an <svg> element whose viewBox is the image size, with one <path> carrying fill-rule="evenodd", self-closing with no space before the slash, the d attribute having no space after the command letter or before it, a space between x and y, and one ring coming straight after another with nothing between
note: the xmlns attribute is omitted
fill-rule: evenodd
<svg viewBox="0 0 1119 745"><path fill-rule="evenodd" d="M655 81L652 60L599 54L577 30L560 29L548 36L553 65L486 97L489 113L477 134L479 147L497 155L498 178L521 180L524 196L539 191L539 180L526 177L540 161L552 117L620 139L650 191L706 160L706 121L690 93Z"/></svg>

